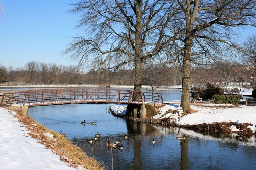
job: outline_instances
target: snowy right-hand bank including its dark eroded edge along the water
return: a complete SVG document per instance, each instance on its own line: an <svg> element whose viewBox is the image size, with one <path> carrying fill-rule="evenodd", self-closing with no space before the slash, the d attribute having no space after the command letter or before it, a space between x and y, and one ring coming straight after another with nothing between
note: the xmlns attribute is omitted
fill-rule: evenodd
<svg viewBox="0 0 256 170"><path fill-rule="evenodd" d="M114 105L111 107L111 110L115 114L121 113L125 115L126 107L126 105ZM179 105L167 104L159 108L157 114L151 119L156 120L158 123L167 121L167 125L196 127L199 130L206 127L206 125L219 123L215 126L221 126L220 129L223 128L228 131L244 130L252 133L256 131L256 106L200 104L191 105L191 108L197 112L184 114ZM212 128L218 130L216 127Z"/></svg>

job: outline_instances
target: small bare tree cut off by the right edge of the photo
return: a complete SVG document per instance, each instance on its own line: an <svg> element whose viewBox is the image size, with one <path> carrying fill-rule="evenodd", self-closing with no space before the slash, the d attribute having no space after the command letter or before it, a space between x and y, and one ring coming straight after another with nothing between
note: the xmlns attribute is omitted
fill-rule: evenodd
<svg viewBox="0 0 256 170"><path fill-rule="evenodd" d="M243 44L241 60L247 65L253 76L254 88L256 88L256 34L249 36Z"/></svg>

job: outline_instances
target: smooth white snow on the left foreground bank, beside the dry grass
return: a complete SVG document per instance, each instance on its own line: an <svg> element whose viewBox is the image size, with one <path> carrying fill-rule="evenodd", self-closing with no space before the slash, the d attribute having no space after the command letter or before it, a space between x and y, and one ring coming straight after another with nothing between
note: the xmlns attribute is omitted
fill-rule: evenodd
<svg viewBox="0 0 256 170"><path fill-rule="evenodd" d="M0 169L75 169L31 138L14 114L0 108Z"/></svg>

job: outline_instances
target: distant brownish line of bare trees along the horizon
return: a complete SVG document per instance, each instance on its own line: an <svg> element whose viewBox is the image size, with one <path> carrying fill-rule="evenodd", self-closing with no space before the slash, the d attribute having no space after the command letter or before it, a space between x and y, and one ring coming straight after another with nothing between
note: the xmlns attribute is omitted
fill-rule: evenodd
<svg viewBox="0 0 256 170"><path fill-rule="evenodd" d="M143 85L151 87L151 91L160 86L176 86L182 84L180 66L163 66L147 64L143 68ZM89 70L82 71L76 66L64 66L54 63L46 64L30 61L23 68L13 69L0 67L0 81L8 84L72 84L72 85L133 85L134 70ZM191 84L219 84L228 87L232 83L242 86L249 83L254 86L254 72L250 65L234 60L217 61L206 66L193 66ZM246 82L246 83L245 83Z"/></svg>

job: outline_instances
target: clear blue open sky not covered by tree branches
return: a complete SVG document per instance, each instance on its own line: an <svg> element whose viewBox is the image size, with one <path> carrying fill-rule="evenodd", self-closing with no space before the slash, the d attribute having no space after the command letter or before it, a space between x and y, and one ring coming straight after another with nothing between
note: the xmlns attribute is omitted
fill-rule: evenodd
<svg viewBox="0 0 256 170"><path fill-rule="evenodd" d="M66 13L75 0L0 0L0 65L14 69L29 61L76 65L69 56L61 56L71 37L81 30L75 28L79 16ZM252 27L240 31L242 42L255 34Z"/></svg>

